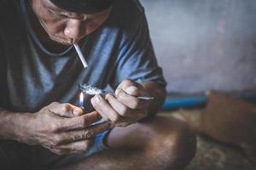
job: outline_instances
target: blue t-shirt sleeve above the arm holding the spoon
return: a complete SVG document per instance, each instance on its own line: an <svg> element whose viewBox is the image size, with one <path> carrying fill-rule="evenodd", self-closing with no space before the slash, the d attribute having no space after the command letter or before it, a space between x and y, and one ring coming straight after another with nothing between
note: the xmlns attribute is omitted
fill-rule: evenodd
<svg viewBox="0 0 256 170"><path fill-rule="evenodd" d="M124 79L156 82L166 87L162 69L155 58L145 16L134 31L123 36L113 72L110 83L112 88L116 88Z"/></svg>

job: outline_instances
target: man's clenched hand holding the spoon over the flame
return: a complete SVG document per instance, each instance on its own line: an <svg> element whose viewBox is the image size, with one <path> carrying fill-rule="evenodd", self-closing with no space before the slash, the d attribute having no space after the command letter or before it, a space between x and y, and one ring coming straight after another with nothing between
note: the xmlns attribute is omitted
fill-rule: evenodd
<svg viewBox="0 0 256 170"><path fill-rule="evenodd" d="M143 86L131 80L124 80L115 90L115 96L107 94L94 96L90 101L96 111L107 122L126 127L148 116L148 106L152 102L137 99L138 95L148 95Z"/></svg>

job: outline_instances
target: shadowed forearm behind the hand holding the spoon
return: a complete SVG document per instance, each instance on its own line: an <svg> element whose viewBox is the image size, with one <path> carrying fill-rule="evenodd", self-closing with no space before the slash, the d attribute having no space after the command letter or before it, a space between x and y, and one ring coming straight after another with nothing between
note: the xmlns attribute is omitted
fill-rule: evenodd
<svg viewBox="0 0 256 170"><path fill-rule="evenodd" d="M154 100L152 100L152 103L148 108L148 116L146 118L149 118L156 115L157 111L159 111L164 104L166 99L166 88L160 86L156 82L143 82L142 85L148 94L154 97Z"/></svg>

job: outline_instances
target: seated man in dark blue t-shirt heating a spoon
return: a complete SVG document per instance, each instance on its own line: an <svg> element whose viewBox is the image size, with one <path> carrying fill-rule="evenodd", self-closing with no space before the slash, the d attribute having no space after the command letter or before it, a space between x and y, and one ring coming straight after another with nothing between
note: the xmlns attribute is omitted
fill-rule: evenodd
<svg viewBox="0 0 256 170"><path fill-rule="evenodd" d="M183 122L154 116L166 82L137 0L2 0L0 8L0 167L188 164L195 154L193 133ZM116 95L87 95L82 111L79 82L109 85Z"/></svg>

